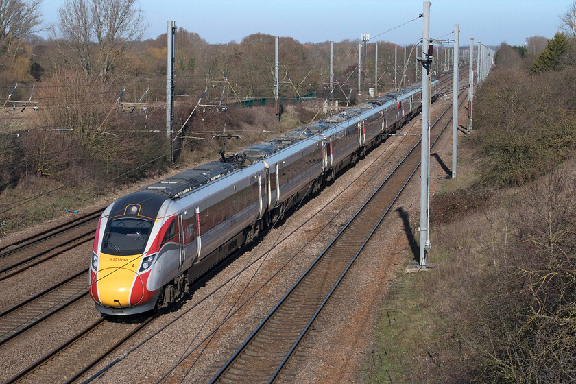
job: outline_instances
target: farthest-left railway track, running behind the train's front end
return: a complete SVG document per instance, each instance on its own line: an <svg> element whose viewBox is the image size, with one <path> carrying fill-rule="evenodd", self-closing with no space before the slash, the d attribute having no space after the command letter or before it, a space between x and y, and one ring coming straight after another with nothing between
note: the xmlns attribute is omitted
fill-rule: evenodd
<svg viewBox="0 0 576 384"><path fill-rule="evenodd" d="M101 210L87 213L64 226L51 228L0 248L0 281L78 245L93 241L100 214Z"/></svg>

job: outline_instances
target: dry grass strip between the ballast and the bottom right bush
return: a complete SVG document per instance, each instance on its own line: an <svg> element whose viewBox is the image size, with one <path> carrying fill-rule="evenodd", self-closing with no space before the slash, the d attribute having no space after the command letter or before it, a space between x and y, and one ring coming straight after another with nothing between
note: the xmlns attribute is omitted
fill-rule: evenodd
<svg viewBox="0 0 576 384"><path fill-rule="evenodd" d="M475 295L485 283L488 258L476 257L492 239L484 212L436 226L434 269L398 274L383 302L369 367L371 383L449 383L472 379L477 351L468 338ZM411 255L409 255L411 256ZM408 256L408 257L409 257ZM463 305L469 304L464 311ZM463 315L466 314L466 319ZM466 320L466 321L464 321Z"/></svg>

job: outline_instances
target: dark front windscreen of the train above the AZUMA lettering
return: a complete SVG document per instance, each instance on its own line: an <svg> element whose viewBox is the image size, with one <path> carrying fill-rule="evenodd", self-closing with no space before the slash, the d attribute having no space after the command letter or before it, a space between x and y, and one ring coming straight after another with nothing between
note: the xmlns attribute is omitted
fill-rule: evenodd
<svg viewBox="0 0 576 384"><path fill-rule="evenodd" d="M141 254L150 235L152 221L143 219L115 219L108 223L101 252L117 256Z"/></svg>

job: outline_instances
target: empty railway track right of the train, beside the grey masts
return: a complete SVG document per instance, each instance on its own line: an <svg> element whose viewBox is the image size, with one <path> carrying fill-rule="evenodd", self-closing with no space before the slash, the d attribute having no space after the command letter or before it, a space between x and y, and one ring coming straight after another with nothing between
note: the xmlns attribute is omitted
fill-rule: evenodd
<svg viewBox="0 0 576 384"><path fill-rule="evenodd" d="M440 125L451 108L449 106L444 110L435 126ZM444 132L451 118L444 120L446 124L440 132L431 133L433 143ZM324 304L418 170L419 148L420 141L219 370L211 383L270 383L276 379Z"/></svg>

